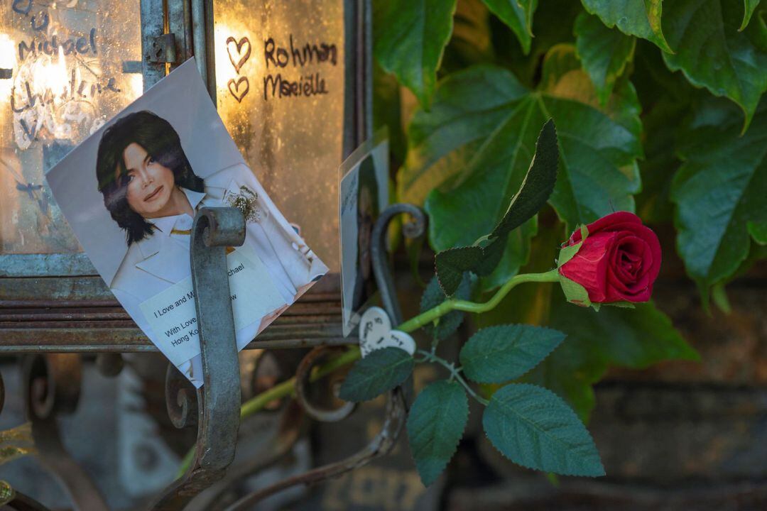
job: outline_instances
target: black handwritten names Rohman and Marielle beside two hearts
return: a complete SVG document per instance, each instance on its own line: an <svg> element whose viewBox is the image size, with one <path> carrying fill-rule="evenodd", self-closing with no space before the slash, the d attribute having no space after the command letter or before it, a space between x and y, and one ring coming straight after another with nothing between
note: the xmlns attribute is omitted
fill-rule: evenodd
<svg viewBox="0 0 767 511"><path fill-rule="evenodd" d="M338 50L335 44L319 43L304 44L296 47L293 43L293 34L288 38L288 47L280 47L274 38L264 41L264 60L266 68L275 67L282 69L288 66L305 67L311 64L331 64L335 66L338 61ZM298 80L287 79L282 73L267 74L264 77L264 100L283 97L308 97L318 94L327 94L328 87L319 72L298 77Z"/></svg>

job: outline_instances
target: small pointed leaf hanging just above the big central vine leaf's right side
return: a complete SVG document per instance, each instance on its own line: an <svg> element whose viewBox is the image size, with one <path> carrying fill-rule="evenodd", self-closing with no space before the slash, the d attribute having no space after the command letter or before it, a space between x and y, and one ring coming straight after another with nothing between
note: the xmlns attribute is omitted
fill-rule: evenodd
<svg viewBox="0 0 767 511"><path fill-rule="evenodd" d="M615 80L634 57L637 40L617 28L607 28L596 16L581 12L575 20L575 49L597 88L601 104L610 99Z"/></svg>

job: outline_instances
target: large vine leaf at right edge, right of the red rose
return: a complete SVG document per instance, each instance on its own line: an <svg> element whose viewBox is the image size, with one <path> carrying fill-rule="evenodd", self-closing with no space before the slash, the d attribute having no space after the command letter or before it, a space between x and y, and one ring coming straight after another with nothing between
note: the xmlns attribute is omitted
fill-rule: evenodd
<svg viewBox="0 0 767 511"><path fill-rule="evenodd" d="M683 135L673 181L677 249L704 293L749 254L749 224L767 222L767 100L740 136L740 116L722 100L696 111Z"/></svg>

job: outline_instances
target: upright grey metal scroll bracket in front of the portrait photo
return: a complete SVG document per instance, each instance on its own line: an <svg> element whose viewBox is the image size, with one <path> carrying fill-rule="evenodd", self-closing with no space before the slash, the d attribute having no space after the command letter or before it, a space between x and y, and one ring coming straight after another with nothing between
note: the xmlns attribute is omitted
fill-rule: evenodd
<svg viewBox="0 0 767 511"><path fill-rule="evenodd" d="M150 507L155 511L183 509L200 491L221 479L234 459L240 376L229 280L222 277L226 274L225 248L239 247L244 241L245 218L238 209L202 208L197 212L190 257L205 386L196 395L199 416L191 468ZM186 393L177 396L188 397Z"/></svg>

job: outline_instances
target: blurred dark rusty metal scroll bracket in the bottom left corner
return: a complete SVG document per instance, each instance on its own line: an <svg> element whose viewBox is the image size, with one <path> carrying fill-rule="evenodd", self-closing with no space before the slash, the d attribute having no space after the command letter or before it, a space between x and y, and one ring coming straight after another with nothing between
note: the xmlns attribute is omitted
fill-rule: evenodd
<svg viewBox="0 0 767 511"><path fill-rule="evenodd" d="M67 490L75 509L106 511L104 497L61 443L57 415L77 408L82 378L79 355L30 355L25 359L25 402L40 463Z"/></svg>

